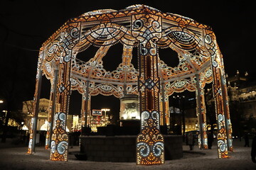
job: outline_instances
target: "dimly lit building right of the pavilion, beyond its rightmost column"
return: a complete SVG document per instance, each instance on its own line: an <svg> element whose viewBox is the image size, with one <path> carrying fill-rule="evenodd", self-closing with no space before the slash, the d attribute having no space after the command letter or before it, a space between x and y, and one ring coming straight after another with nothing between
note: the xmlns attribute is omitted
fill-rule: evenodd
<svg viewBox="0 0 256 170"><path fill-rule="evenodd" d="M227 75L227 81L233 133L238 136L255 133L256 81L250 80L247 72L241 75L239 71L233 77Z"/></svg>

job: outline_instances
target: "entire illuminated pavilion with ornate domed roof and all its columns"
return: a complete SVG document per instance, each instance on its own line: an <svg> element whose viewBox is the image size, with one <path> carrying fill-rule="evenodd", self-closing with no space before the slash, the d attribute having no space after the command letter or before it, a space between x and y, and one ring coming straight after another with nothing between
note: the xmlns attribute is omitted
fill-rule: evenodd
<svg viewBox="0 0 256 170"><path fill-rule="evenodd" d="M103 67L102 58L116 43L123 45L122 63L110 72ZM76 59L90 45L99 47L94 57L86 62ZM138 69L131 63L134 47ZM174 50L179 64L165 64L159 48ZM43 74L51 84L46 139L51 160L68 161L65 124L71 90L82 94L83 126L87 125L91 96L139 96L137 164L164 164L164 137L159 125L169 123L168 98L174 92L196 91L199 147L207 149L203 88L211 82L218 122L218 157L228 157L228 150L233 150L223 56L212 28L191 18L133 5L119 11L90 11L67 21L43 43L39 52L28 153L35 150Z"/></svg>

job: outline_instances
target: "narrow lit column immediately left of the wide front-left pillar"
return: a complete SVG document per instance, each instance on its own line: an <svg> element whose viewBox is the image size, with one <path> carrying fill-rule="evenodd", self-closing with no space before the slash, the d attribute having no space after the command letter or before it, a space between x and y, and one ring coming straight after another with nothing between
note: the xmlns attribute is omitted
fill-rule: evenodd
<svg viewBox="0 0 256 170"><path fill-rule="evenodd" d="M46 149L50 147L51 135L53 135L53 117L55 110L55 94L56 94L56 84L57 84L58 70L54 70L53 82L50 86L50 103L48 109L48 127L46 133Z"/></svg>

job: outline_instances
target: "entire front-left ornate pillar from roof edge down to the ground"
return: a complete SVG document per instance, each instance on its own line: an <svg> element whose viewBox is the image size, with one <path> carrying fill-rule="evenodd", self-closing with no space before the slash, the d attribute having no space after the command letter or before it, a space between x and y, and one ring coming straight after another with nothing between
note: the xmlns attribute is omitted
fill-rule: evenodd
<svg viewBox="0 0 256 170"><path fill-rule="evenodd" d="M74 57L73 47L80 37L80 23L70 23L63 26L60 40L49 47L48 53L59 57L58 78L55 91L55 109L53 135L50 142L50 160L68 161L68 133L66 121L70 100L71 58ZM57 49L57 50L56 50ZM52 55L48 55L50 60ZM53 55L54 56L54 55Z"/></svg>

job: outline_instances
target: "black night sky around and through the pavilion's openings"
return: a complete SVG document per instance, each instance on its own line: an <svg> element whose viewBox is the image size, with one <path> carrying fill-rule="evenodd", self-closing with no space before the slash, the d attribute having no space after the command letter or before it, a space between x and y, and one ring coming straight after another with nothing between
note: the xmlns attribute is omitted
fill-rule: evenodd
<svg viewBox="0 0 256 170"><path fill-rule="evenodd" d="M119 10L133 4L146 4L164 13L177 13L211 26L223 53L225 72L231 76L236 70L239 70L240 74L247 71L250 77L255 77L256 6L252 5L253 1L100 0L90 1L89 4L87 2L0 1L0 97L4 96L5 91L14 89L15 92L12 92L16 95L17 101L33 99L38 50L69 18L96 9ZM120 46L117 45L113 49L118 47ZM91 50L95 49L92 47ZM120 54L120 57L115 59L112 54ZM105 66L110 69L117 67L108 63L112 63L113 60L121 62L121 54L122 51L110 51L103 59ZM78 57L83 59L82 55ZM49 91L50 81L44 77L41 97L49 98ZM80 113L80 98L81 95L73 91L70 98L70 113ZM92 109L111 108L113 112L119 113L119 108L115 107L118 105L119 99L114 96L92 97Z"/></svg>

